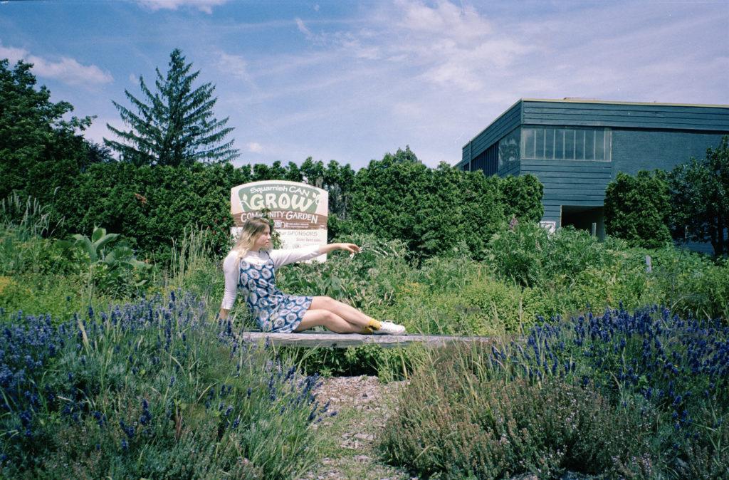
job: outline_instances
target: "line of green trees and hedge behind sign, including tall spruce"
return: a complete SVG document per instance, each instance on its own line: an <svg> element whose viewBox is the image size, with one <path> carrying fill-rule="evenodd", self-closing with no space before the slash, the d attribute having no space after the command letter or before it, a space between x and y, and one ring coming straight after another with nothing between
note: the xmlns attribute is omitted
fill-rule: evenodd
<svg viewBox="0 0 729 480"><path fill-rule="evenodd" d="M409 147L354 171L335 160L235 168L227 140L232 128L216 120L214 87L195 88L179 50L155 88L140 77L143 99L125 91L131 107L114 102L128 130L89 142L93 117L63 117L65 101L36 88L31 64L0 61L0 198L33 197L50 206L53 234L90 234L98 226L120 233L141 258L166 260L174 239L195 225L227 248L230 188L284 179L330 194L330 237L374 233L399 239L417 258L467 249L477 257L491 235L512 218L542 217L542 185L535 177L486 177L441 163L429 168ZM117 152L117 156L112 155Z"/></svg>

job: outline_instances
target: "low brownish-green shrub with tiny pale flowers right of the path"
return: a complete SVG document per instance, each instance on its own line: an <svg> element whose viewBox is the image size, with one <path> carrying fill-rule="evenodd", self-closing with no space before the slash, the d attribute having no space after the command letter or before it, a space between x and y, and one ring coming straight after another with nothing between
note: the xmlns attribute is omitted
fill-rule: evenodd
<svg viewBox="0 0 729 480"><path fill-rule="evenodd" d="M470 358L449 350L411 377L381 436L386 460L447 479L652 472L647 414L558 379L485 379Z"/></svg>

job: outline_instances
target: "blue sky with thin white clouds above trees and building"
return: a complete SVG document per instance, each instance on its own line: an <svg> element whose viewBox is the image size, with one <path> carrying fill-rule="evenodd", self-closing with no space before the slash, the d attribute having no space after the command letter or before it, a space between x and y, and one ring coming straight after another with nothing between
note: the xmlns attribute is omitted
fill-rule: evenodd
<svg viewBox="0 0 729 480"><path fill-rule="evenodd" d="M235 166L409 146L435 167L520 98L729 104L728 26L729 0L0 0L0 59L96 143L179 48Z"/></svg>

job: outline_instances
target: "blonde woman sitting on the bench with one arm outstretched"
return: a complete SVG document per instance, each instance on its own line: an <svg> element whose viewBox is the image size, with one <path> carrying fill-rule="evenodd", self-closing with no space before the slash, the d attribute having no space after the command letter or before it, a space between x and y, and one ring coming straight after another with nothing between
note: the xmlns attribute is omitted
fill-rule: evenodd
<svg viewBox="0 0 729 480"><path fill-rule="evenodd" d="M390 321L379 322L333 298L287 295L276 288L277 268L334 250L357 253L359 247L355 244L337 243L280 250L269 250L270 247L269 223L262 218L246 220L238 243L223 260L225 293L220 306L220 318L227 319L238 290L241 290L258 326L264 332L301 332L321 325L336 333L405 333L402 325Z"/></svg>

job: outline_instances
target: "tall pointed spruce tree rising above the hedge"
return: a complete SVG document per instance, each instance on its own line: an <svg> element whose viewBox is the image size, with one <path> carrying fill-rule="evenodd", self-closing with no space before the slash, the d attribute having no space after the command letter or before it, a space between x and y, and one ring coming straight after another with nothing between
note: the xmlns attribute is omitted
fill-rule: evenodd
<svg viewBox="0 0 729 480"><path fill-rule="evenodd" d="M185 64L179 49L171 53L169 67L166 77L159 68L155 69L155 93L149 90L144 78L139 77L143 100L124 90L136 113L112 101L131 129L121 131L107 123L120 141L104 139L104 144L119 152L122 161L136 166L189 167L198 162L225 163L237 158L239 154L233 148L233 140L225 142L227 134L233 131L225 126L228 118L216 120L213 117L217 101L213 98L215 87L206 83L192 89L200 71L190 73L192 63Z"/></svg>

